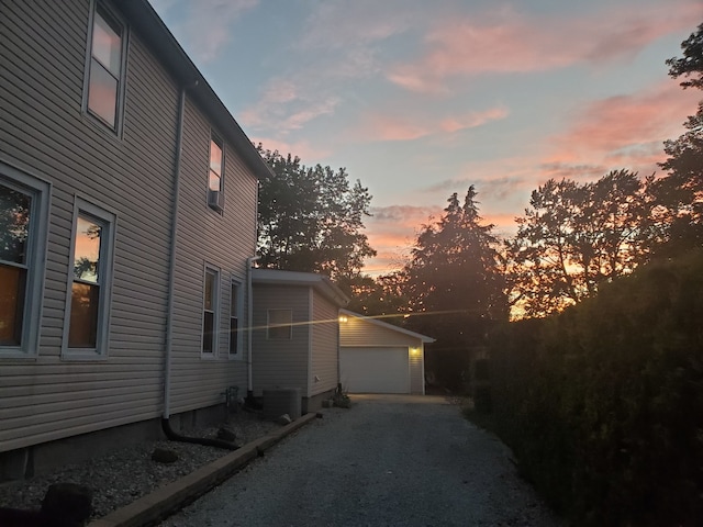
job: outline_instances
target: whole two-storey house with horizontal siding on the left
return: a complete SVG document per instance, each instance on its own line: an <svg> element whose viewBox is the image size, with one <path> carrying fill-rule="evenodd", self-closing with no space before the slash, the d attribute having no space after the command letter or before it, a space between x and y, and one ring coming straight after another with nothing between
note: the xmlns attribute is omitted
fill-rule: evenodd
<svg viewBox="0 0 703 527"><path fill-rule="evenodd" d="M269 169L146 0L0 2L0 34L2 479L249 388Z"/></svg>

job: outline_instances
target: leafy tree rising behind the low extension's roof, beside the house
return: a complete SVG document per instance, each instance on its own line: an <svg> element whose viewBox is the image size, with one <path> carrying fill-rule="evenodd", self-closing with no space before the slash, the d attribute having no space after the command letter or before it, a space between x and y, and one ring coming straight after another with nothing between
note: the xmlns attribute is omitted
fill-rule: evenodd
<svg viewBox="0 0 703 527"><path fill-rule="evenodd" d="M258 149L275 173L259 181L259 264L335 280L358 274L376 255L362 233L368 189L350 184L344 168L309 168L290 154Z"/></svg>

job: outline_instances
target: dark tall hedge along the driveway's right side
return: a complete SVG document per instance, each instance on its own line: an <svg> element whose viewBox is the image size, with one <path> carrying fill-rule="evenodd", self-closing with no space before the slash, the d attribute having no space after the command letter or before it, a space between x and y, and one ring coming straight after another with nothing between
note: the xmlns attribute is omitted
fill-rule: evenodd
<svg viewBox="0 0 703 527"><path fill-rule="evenodd" d="M491 337L498 434L574 525L703 518L703 254Z"/></svg>

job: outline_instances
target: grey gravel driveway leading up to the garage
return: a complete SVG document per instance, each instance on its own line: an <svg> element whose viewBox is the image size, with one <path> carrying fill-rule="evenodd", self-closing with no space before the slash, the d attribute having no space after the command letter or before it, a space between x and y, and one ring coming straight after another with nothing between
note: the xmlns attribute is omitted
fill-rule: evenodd
<svg viewBox="0 0 703 527"><path fill-rule="evenodd" d="M353 396L164 527L556 526L507 449L443 397Z"/></svg>

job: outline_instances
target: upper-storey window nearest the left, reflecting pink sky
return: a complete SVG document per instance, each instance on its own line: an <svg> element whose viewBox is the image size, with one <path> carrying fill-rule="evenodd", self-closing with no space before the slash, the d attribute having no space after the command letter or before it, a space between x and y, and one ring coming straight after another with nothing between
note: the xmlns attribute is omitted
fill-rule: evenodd
<svg viewBox="0 0 703 527"><path fill-rule="evenodd" d="M98 2L93 5L86 109L116 132L125 72L124 26Z"/></svg>

